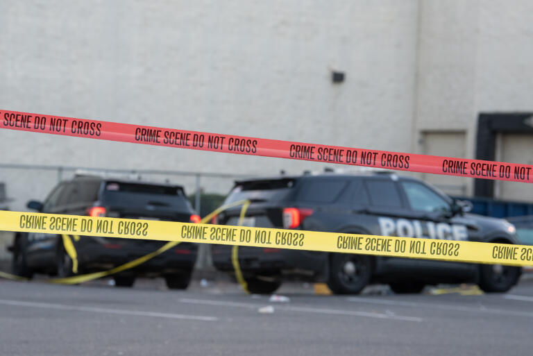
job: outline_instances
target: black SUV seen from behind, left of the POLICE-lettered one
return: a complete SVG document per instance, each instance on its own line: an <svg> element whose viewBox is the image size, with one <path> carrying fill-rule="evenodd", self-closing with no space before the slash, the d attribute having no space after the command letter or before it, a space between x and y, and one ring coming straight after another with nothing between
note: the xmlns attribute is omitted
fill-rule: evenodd
<svg viewBox="0 0 533 356"><path fill-rule="evenodd" d="M97 176L76 176L62 182L44 203L30 201L28 207L55 214L200 221L183 187ZM78 253L79 273L112 269L165 244L164 241L85 236L73 241ZM19 276L31 278L33 273L48 273L65 277L72 274L72 261L60 235L19 232L11 250L12 271ZM135 269L115 275L115 285L131 287L139 275L163 276L169 288L185 289L189 285L196 251L195 244L179 244Z"/></svg>

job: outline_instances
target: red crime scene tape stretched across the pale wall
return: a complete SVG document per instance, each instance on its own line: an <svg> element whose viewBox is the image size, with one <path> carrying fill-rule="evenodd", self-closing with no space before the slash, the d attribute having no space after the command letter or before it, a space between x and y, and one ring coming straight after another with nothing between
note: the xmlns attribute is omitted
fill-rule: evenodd
<svg viewBox="0 0 533 356"><path fill-rule="evenodd" d="M199 151L533 183L533 166L530 164L355 149L28 112L0 110L0 128Z"/></svg>

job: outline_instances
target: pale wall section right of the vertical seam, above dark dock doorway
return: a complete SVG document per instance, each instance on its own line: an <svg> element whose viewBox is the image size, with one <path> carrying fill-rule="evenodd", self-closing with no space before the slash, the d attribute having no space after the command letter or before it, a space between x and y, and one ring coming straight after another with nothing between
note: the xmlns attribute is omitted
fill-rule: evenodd
<svg viewBox="0 0 533 356"><path fill-rule="evenodd" d="M414 151L423 153L424 132L452 130L466 134L466 157L475 158L480 112L533 112L533 3L425 0L420 5ZM433 154L449 150L443 146ZM460 179L439 178L448 184ZM465 182L472 194L473 180Z"/></svg>

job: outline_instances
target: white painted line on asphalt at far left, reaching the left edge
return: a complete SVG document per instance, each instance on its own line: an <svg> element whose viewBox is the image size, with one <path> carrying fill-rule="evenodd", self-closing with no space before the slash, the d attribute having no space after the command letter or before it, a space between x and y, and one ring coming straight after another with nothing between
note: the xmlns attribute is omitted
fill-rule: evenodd
<svg viewBox="0 0 533 356"><path fill-rule="evenodd" d="M55 309L55 310L72 310L76 312L121 314L121 315L133 315L133 316L155 316L157 318L167 318L167 319L185 319L185 320L196 320L196 321L217 321L219 320L217 317L214 317L214 316L170 314L170 313L159 313L159 312L139 312L137 310L108 309L108 308L99 308L99 307L81 307L81 306L76 306L76 305L22 302L19 300L6 300L6 299L0 299L0 304L13 305L17 307L37 307L37 308Z"/></svg>

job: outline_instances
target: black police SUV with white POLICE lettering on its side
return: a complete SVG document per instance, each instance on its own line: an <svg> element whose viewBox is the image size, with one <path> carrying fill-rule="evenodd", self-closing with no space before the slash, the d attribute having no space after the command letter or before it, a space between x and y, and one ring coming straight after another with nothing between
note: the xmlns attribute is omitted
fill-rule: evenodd
<svg viewBox="0 0 533 356"><path fill-rule="evenodd" d="M503 219L464 212L464 205L434 187L394 173L281 176L235 182L226 203L248 199L243 225L400 237L516 244L515 228ZM218 223L237 225L239 208ZM230 248L212 246L214 265L233 271ZM357 294L373 282L397 293L425 285L477 282L484 291L507 291L521 269L398 257L373 257L278 248L239 248L239 264L252 293L271 293L282 276L296 273L325 281L336 294Z"/></svg>

